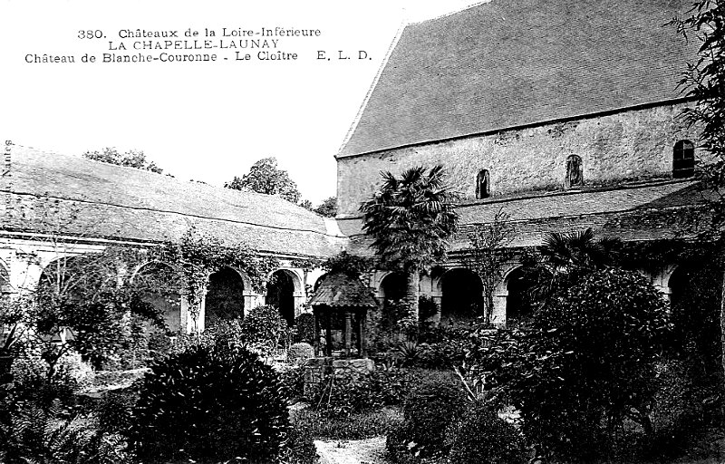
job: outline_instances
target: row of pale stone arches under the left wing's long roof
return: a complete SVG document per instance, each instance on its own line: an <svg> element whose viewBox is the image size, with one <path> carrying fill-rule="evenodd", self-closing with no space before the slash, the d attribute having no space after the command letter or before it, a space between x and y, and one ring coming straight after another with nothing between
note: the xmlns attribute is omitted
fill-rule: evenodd
<svg viewBox="0 0 725 464"><path fill-rule="evenodd" d="M0 291L6 295L34 293L43 282L57 284L60 275L71 272L73 261L87 261L105 247L99 243L59 246L33 240L13 242L0 248ZM289 262L282 259L281 264L285 266ZM140 286L146 301L160 309L171 332L203 330L220 320L244 317L259 304L277 306L287 322L294 324L296 315L304 311L305 289L311 289L323 274L321 270L282 267L268 275L269 285L257 293L245 273L231 267L220 268L209 275L195 321L192 316L195 312L184 297L184 289L175 282L176 270L172 264L149 261L131 267L120 261L115 268L105 271L117 285Z"/></svg>

